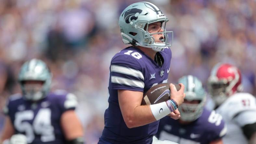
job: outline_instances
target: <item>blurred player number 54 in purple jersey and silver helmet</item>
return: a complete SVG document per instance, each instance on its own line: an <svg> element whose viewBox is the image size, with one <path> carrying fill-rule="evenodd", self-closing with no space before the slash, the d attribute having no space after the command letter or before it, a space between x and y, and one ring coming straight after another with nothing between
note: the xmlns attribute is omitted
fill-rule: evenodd
<svg viewBox="0 0 256 144"><path fill-rule="evenodd" d="M22 95L10 96L4 108L1 144L4 140L9 144L83 144L83 127L74 111L76 97L60 90L49 92L51 73L43 61L23 64L19 83Z"/></svg>

